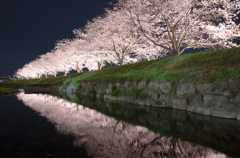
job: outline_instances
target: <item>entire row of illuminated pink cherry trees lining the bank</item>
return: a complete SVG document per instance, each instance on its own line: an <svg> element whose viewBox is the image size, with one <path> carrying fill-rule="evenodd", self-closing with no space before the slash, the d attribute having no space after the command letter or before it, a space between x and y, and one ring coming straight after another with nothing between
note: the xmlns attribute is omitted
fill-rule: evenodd
<svg viewBox="0 0 240 158"><path fill-rule="evenodd" d="M104 15L73 30L75 38L58 41L15 76L56 76L177 56L189 48L238 46L233 41L240 37L239 13L239 0L117 0Z"/></svg>

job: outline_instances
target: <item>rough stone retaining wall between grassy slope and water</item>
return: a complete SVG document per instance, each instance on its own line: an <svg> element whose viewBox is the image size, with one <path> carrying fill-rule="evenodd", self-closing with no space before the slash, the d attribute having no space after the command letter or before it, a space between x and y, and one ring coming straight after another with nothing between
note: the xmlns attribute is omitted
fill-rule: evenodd
<svg viewBox="0 0 240 158"><path fill-rule="evenodd" d="M76 90L79 87L78 90ZM95 82L68 85L67 91L86 97L130 104L186 110L240 120L240 82L157 83L155 81Z"/></svg>

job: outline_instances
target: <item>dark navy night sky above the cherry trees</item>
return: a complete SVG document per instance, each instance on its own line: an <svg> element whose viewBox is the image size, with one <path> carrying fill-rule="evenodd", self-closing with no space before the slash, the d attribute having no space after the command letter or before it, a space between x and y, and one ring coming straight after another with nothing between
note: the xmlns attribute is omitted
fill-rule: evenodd
<svg viewBox="0 0 240 158"><path fill-rule="evenodd" d="M0 76L73 38L72 30L104 13L111 0L0 0Z"/></svg>

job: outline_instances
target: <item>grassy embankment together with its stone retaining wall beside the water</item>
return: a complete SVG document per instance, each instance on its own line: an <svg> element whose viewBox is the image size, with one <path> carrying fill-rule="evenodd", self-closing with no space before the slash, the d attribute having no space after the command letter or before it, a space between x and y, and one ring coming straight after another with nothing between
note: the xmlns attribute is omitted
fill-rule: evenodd
<svg viewBox="0 0 240 158"><path fill-rule="evenodd" d="M240 47L80 73L61 91L240 120Z"/></svg>

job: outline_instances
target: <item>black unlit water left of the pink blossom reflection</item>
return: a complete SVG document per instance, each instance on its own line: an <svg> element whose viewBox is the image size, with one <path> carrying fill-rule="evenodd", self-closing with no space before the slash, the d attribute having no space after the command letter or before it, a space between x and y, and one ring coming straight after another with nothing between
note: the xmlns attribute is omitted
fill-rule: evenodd
<svg viewBox="0 0 240 158"><path fill-rule="evenodd" d="M60 134L47 118L25 106L15 96L0 97L0 157L87 157L73 146L72 135Z"/></svg>

